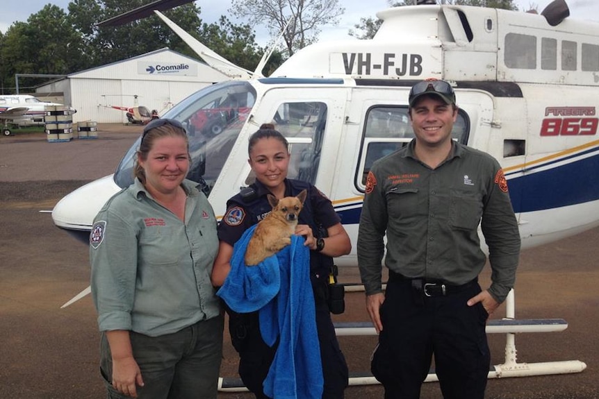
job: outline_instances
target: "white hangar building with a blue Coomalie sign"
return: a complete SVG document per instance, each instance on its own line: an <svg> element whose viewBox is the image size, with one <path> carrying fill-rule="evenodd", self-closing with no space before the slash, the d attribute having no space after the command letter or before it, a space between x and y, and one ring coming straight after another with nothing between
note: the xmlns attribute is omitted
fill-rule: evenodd
<svg viewBox="0 0 599 399"><path fill-rule="evenodd" d="M143 105L163 114L202 87L228 79L204 62L165 48L76 72L36 91L63 92L65 105L77 110L73 123L126 123L126 112L111 105Z"/></svg>

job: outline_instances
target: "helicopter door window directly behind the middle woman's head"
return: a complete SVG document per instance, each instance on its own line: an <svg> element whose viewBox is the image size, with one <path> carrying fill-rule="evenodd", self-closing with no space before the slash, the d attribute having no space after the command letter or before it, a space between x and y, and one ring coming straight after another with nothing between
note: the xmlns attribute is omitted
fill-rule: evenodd
<svg viewBox="0 0 599 399"><path fill-rule="evenodd" d="M326 122L327 104L325 103L289 102L279 105L272 117L272 123L289 142L291 160L288 178L314 184ZM254 178L253 173L250 172L245 183L252 184Z"/></svg>

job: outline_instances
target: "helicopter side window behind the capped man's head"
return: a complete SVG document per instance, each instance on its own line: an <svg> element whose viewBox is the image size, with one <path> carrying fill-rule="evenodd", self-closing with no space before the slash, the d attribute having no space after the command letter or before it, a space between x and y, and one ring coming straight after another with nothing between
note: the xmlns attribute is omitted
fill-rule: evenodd
<svg viewBox="0 0 599 399"><path fill-rule="evenodd" d="M359 160L356 186L364 191L366 176L372 164L379 158L389 155L414 138L406 106L377 106L368 110L361 156ZM454 122L452 138L466 144L468 141L468 116L463 110L458 110Z"/></svg>

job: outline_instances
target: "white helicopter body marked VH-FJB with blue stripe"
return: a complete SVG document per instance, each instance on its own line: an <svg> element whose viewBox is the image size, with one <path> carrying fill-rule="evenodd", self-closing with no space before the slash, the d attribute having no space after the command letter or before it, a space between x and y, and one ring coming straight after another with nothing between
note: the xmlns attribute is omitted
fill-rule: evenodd
<svg viewBox="0 0 599 399"><path fill-rule="evenodd" d="M217 215L252 181L249 135L273 122L291 144L289 177L331 198L355 244L372 162L413 138L411 85L440 78L457 96L454 139L502 164L523 248L599 226L599 24L550 26L541 15L467 6L378 16L373 40L314 44L270 78L206 87L164 115L186 124L189 178L204 184ZM63 198L56 226L86 235L131 182L136 146L114 176ZM356 264L353 247L339 265Z"/></svg>

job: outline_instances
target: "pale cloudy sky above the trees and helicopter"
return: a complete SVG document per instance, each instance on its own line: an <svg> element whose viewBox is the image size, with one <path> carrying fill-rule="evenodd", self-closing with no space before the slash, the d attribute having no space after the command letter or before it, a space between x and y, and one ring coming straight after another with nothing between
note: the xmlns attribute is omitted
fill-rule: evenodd
<svg viewBox="0 0 599 399"><path fill-rule="evenodd" d="M521 10L531 6L538 6L539 12L550 3L551 0L516 0L515 3ZM6 33L6 29L15 21L26 22L29 15L40 11L48 3L56 4L68 12L69 0L2 0L0 5L0 31ZM231 6L230 0L198 0L196 3L202 8L202 19L204 22L217 22L220 15L230 15L228 10ZM361 17L375 17L379 10L388 7L386 0L340 0L345 7L345 14L341 17L338 26L322 28L320 40L334 40L347 38L347 31L360 22ZM566 0L570 8L571 17L582 19L595 19L599 21L599 0ZM256 41L260 45L268 44L268 35L262 30L256 31ZM262 33L261 33L262 32Z"/></svg>

